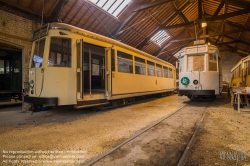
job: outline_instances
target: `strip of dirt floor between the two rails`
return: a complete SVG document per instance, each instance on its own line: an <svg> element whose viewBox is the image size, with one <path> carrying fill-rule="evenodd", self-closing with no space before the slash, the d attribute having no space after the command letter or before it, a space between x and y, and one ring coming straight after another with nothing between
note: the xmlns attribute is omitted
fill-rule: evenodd
<svg viewBox="0 0 250 166"><path fill-rule="evenodd" d="M188 103L177 113L93 165L177 165L208 103Z"/></svg>

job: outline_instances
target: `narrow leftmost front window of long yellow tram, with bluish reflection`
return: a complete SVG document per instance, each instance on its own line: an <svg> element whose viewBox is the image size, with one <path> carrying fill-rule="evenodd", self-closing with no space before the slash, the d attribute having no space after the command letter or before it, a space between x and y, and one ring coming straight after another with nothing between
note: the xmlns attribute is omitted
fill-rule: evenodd
<svg viewBox="0 0 250 166"><path fill-rule="evenodd" d="M44 45L45 45L45 39L41 39L39 41L36 41L34 43L34 52L33 52L33 58L32 58L32 68L41 67L43 63L43 54L44 54Z"/></svg>

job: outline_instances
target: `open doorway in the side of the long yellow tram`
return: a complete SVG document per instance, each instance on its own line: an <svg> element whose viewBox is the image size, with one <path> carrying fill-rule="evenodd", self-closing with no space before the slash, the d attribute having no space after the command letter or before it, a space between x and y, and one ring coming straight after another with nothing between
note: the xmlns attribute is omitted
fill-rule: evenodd
<svg viewBox="0 0 250 166"><path fill-rule="evenodd" d="M105 94L105 48L83 43L83 98L84 95Z"/></svg>

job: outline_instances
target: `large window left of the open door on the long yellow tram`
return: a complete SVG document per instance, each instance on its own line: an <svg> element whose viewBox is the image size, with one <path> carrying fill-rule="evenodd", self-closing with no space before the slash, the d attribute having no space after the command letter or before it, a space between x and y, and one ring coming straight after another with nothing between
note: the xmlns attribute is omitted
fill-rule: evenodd
<svg viewBox="0 0 250 166"><path fill-rule="evenodd" d="M71 39L51 38L49 66L71 67Z"/></svg>

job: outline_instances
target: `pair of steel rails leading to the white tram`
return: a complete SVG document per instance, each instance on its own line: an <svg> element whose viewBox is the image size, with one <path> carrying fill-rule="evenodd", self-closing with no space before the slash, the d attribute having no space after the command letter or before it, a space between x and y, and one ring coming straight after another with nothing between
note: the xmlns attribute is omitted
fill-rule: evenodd
<svg viewBox="0 0 250 166"><path fill-rule="evenodd" d="M98 156L97 158L83 164L84 166L92 166L95 165L96 163L98 163L100 160L104 159L105 157L108 157L110 154L114 153L116 150L118 150L119 148L125 146L126 144L128 144L129 142L133 141L134 139L138 138L139 136L141 136L144 133L147 133L149 130L156 128L158 125L160 125L163 121L167 120L170 117L173 117L175 115L179 113L181 114L182 111L185 111L185 108L187 108L188 106L190 106L192 103L194 103L195 101L190 101L189 103L187 103L186 105L184 105L183 107L177 109L175 112L173 112L172 114L168 114L165 117L163 117L162 119L158 120L157 122L155 122L154 124L150 125L149 127L139 131L138 133L134 134L133 136L131 136L130 138L126 139L125 141L123 141L122 143L120 143L119 145L117 145L116 147L110 149L109 151L107 151L106 153ZM182 152L181 157L179 158L179 160L176 162L176 165L178 166L183 166L185 165L185 161L187 159L187 156L190 153L190 149L192 148L193 144L194 144L194 140L195 137L200 129L200 126L204 120L204 117L206 115L207 112L207 108L209 107L211 101L206 101L204 109L203 109L203 113L202 113L202 117L196 122L196 126L195 126L195 130L192 133L191 139L189 140L188 144L186 145L185 150Z"/></svg>

